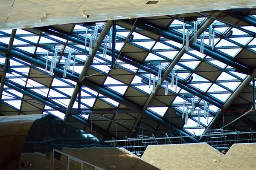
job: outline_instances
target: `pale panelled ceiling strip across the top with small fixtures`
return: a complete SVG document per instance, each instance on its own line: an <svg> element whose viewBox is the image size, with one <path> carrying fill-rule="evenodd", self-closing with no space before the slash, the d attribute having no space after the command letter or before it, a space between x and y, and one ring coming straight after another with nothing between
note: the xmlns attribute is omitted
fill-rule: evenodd
<svg viewBox="0 0 256 170"><path fill-rule="evenodd" d="M256 6L255 0L0 0L0 30ZM90 17L84 18L81 11ZM49 14L47 20L39 18ZM124 16L124 17L118 17Z"/></svg>

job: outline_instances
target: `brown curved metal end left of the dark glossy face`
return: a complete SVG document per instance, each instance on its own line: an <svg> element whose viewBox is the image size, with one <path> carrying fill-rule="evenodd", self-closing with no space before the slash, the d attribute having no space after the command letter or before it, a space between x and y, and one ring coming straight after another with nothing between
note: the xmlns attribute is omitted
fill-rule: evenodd
<svg viewBox="0 0 256 170"><path fill-rule="evenodd" d="M40 115L0 117L0 169L17 170L29 129Z"/></svg>

